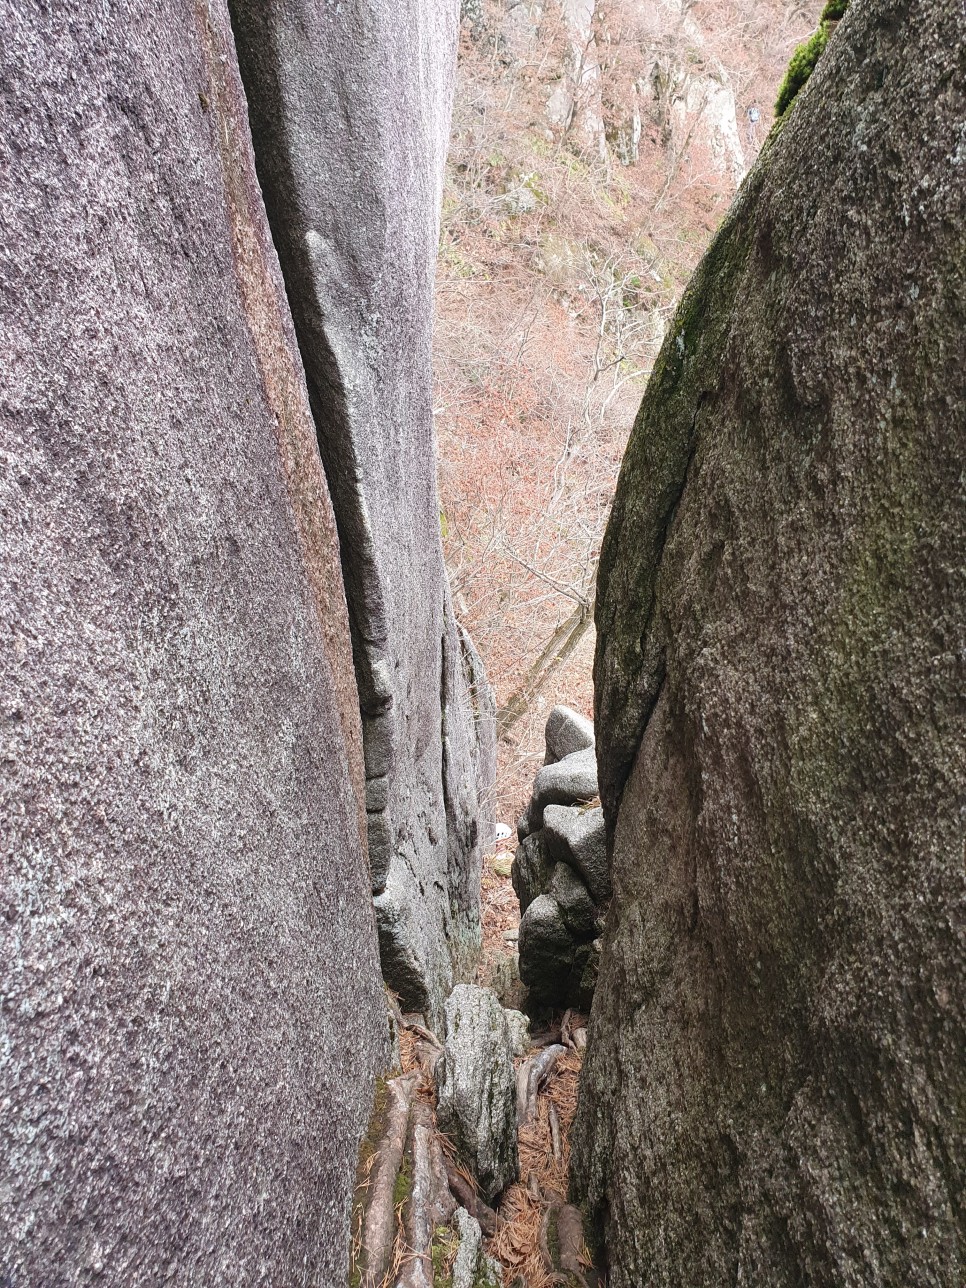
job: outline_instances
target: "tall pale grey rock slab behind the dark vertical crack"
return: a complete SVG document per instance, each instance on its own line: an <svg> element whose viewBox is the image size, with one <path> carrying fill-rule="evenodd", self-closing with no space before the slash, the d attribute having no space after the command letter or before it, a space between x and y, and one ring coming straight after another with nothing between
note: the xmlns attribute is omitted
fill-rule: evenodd
<svg viewBox="0 0 966 1288"><path fill-rule="evenodd" d="M231 9L343 549L372 893L392 890L383 966L403 1006L439 1025L479 945L496 748L492 696L448 598L431 417L459 3Z"/></svg>

